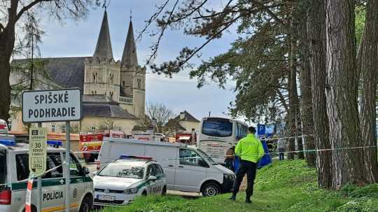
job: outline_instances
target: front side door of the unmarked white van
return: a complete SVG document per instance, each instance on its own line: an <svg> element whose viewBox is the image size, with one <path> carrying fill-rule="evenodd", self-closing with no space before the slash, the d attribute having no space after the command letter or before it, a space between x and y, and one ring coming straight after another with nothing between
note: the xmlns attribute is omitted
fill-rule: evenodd
<svg viewBox="0 0 378 212"><path fill-rule="evenodd" d="M174 190L200 192L209 165L194 150L180 148Z"/></svg>

